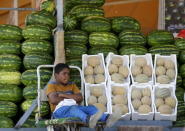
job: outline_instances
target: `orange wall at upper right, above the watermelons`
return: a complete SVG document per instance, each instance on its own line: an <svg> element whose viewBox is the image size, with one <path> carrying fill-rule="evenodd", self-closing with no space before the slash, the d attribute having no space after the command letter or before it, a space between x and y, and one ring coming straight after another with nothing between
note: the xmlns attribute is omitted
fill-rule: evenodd
<svg viewBox="0 0 185 131"><path fill-rule="evenodd" d="M133 3L127 3L128 0L122 0L123 3L117 2L117 4L116 1L121 0L107 0L107 3L103 7L106 12L106 17L132 16L141 23L142 31L144 33L148 33L151 30L157 29L159 5L158 0L146 0L143 2Z"/></svg>

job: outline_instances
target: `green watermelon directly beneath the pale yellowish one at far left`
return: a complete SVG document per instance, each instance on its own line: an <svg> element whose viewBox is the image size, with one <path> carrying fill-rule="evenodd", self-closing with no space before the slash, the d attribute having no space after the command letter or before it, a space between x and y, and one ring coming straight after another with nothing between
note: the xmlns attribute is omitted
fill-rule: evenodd
<svg viewBox="0 0 185 131"><path fill-rule="evenodd" d="M0 86L0 101L19 102L22 99L22 89L15 85Z"/></svg>

